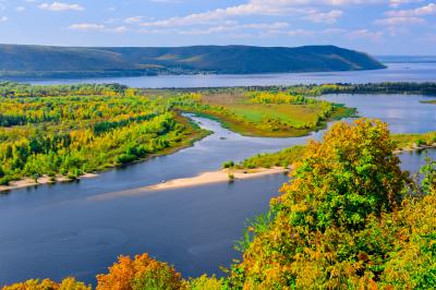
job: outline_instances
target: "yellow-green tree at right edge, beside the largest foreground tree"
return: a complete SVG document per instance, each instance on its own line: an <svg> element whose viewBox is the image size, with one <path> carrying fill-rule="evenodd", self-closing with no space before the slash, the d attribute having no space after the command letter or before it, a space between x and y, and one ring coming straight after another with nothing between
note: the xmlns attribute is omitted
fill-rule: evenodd
<svg viewBox="0 0 436 290"><path fill-rule="evenodd" d="M421 173L421 194L404 200L396 215L398 231L393 251L382 274L382 287L436 288L436 161Z"/></svg>

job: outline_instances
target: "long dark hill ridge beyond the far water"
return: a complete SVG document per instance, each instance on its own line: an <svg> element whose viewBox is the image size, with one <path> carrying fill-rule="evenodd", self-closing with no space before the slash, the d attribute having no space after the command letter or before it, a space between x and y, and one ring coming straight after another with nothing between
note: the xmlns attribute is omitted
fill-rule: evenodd
<svg viewBox="0 0 436 290"><path fill-rule="evenodd" d="M49 47L0 45L3 76L112 76L375 70L366 53L335 46Z"/></svg>

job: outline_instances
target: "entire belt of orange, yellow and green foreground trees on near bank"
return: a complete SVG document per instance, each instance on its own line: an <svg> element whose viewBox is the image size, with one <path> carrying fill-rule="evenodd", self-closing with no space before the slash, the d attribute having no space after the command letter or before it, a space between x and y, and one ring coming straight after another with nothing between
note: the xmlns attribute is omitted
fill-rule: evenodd
<svg viewBox="0 0 436 290"><path fill-rule="evenodd" d="M183 279L147 254L120 256L96 289L434 289L436 162L414 179L377 120L336 123L310 141L269 212L249 225L227 276ZM16 289L92 289L65 278Z"/></svg>

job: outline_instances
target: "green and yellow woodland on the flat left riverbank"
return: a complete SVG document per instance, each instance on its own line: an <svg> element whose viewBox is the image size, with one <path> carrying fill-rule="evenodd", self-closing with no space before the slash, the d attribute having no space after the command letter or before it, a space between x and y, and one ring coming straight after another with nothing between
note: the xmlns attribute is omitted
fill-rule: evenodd
<svg viewBox="0 0 436 290"><path fill-rule="evenodd" d="M119 85L0 85L0 184L75 179L187 146L207 132Z"/></svg>

